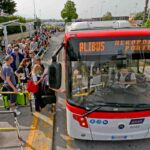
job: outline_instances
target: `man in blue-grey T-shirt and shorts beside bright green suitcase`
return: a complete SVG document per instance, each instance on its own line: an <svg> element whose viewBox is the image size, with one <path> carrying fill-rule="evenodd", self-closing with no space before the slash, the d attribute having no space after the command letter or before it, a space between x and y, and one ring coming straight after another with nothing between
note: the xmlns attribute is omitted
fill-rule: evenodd
<svg viewBox="0 0 150 150"><path fill-rule="evenodd" d="M7 91L17 93L16 89L16 78L12 67L10 66L13 62L13 57L11 55L7 55L5 57L5 63L2 66L2 76L4 79L4 87ZM20 112L16 109L16 94L8 95L10 101L10 111L16 112L17 115L20 115Z"/></svg>

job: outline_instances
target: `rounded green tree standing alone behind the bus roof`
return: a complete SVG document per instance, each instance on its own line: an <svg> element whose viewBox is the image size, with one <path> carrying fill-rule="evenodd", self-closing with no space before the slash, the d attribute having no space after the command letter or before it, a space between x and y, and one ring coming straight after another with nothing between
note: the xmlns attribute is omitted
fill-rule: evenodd
<svg viewBox="0 0 150 150"><path fill-rule="evenodd" d="M61 11L61 17L64 19L65 23L71 22L72 19L77 19L78 14L76 12L75 3L71 0L68 0Z"/></svg>

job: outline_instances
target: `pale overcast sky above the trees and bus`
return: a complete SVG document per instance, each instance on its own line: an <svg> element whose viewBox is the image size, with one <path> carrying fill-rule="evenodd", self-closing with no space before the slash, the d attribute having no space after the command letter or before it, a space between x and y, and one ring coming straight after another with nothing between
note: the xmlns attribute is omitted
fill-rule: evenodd
<svg viewBox="0 0 150 150"><path fill-rule="evenodd" d="M17 3L15 14L34 18L34 1L36 15L41 19L61 19L60 12L67 0L14 0ZM129 15L144 10L145 0L73 0L79 18L99 17L110 11L114 16ZM150 7L150 4L149 4Z"/></svg>

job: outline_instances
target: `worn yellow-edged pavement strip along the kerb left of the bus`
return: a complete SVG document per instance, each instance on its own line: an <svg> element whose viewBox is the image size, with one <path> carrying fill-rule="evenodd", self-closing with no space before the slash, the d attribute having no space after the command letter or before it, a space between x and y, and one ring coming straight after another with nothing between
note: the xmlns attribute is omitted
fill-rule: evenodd
<svg viewBox="0 0 150 150"><path fill-rule="evenodd" d="M38 150L52 149L54 116L51 113L48 113L47 116L34 113L33 116L32 127L35 127L35 130L30 130L25 150L32 148L38 148Z"/></svg>

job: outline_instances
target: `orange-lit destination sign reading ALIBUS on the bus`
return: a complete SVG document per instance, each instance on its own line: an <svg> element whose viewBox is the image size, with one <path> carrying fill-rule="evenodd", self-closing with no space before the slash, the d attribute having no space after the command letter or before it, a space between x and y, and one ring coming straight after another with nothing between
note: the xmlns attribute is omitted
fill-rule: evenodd
<svg viewBox="0 0 150 150"><path fill-rule="evenodd" d="M116 41L84 41L79 42L80 53L115 52L123 50L124 53L135 51L150 51L150 40L116 40Z"/></svg>

